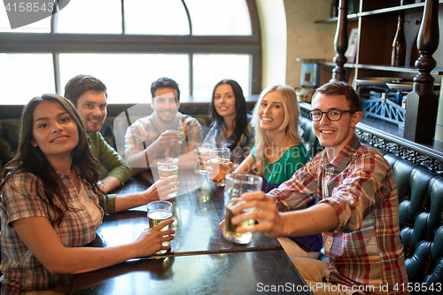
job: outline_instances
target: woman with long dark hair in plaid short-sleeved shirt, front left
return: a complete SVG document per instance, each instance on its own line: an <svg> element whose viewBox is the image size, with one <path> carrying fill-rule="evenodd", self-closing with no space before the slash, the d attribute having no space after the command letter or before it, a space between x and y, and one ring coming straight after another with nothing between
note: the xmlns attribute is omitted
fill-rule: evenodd
<svg viewBox="0 0 443 295"><path fill-rule="evenodd" d="M170 247L162 243L174 238L174 230L160 229L172 219L128 245L82 247L95 239L105 213L98 180L98 162L74 105L55 94L31 99L21 116L18 151L0 182L3 294L66 293L72 274Z"/></svg>

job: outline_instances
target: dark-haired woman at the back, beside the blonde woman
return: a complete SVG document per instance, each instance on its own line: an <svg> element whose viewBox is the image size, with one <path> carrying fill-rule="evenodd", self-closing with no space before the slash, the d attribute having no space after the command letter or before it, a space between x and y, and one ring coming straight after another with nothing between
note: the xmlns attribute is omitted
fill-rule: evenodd
<svg viewBox="0 0 443 295"><path fill-rule="evenodd" d="M214 86L209 117L212 121L204 143L228 147L230 160L240 164L254 145L251 115L243 89L234 80L221 80Z"/></svg>

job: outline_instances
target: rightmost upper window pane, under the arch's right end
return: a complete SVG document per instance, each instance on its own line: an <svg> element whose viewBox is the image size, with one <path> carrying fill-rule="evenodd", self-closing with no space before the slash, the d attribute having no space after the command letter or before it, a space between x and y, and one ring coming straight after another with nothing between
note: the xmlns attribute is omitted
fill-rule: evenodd
<svg viewBox="0 0 443 295"><path fill-rule="evenodd" d="M184 0L190 11L192 35L252 35L244 0Z"/></svg>

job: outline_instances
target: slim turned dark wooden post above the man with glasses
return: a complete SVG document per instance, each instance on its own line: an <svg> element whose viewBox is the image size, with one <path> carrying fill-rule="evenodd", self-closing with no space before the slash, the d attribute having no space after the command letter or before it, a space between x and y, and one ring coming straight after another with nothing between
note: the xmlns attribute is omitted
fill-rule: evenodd
<svg viewBox="0 0 443 295"><path fill-rule="evenodd" d="M332 79L339 81L346 81L345 63L347 58L345 52L347 50L347 0L340 0L338 6L338 21L337 30L335 32L334 49L337 55L334 57L334 62L337 64L332 69Z"/></svg>

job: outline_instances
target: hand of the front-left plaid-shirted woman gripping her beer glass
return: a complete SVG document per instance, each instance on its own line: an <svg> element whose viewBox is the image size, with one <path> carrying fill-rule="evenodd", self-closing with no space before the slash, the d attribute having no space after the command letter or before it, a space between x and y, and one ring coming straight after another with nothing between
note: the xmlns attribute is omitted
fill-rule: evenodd
<svg viewBox="0 0 443 295"><path fill-rule="evenodd" d="M171 245L162 245L164 242L169 242L174 239L174 229L166 229L168 224L174 222L174 219L168 219L161 221L158 225L152 229L144 229L140 237L136 239L134 245L136 247L136 257L151 256L153 253L159 250L171 249Z"/></svg>

